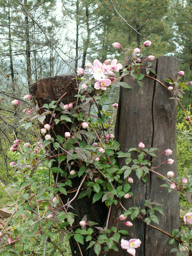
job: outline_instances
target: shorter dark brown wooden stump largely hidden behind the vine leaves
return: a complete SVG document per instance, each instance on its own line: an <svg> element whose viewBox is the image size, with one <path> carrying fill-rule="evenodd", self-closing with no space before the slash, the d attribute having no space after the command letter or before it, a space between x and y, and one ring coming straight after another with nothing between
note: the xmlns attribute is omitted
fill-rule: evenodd
<svg viewBox="0 0 192 256"><path fill-rule="evenodd" d="M35 83L30 85L30 93L34 96L36 99L36 102L39 107L39 111L42 111L42 106L46 103L49 104L52 100L58 100L65 92L67 92L66 96L62 98L63 104L69 104L70 102L76 102L77 98L75 95L78 93L77 88L77 82L74 79L74 74L63 74L60 76L52 76L48 78L43 78L41 80L36 81ZM46 119L45 123L49 123L50 116ZM67 123L67 126L70 127L71 123ZM54 131L57 135L61 135L64 137L64 133L68 132L68 129L64 124L58 124L54 126ZM54 136L54 134L51 134ZM52 148L54 151L55 149ZM57 164L57 162L54 162L54 164ZM60 168L62 170L66 170L66 163L62 162L60 165ZM74 170L78 171L77 168L74 166ZM54 179L56 180L56 175L54 174ZM63 180L64 178L59 174L58 182ZM80 178L73 178L72 179L72 187L69 187L69 190L78 188L79 184L81 182ZM76 194L76 191L74 193L70 193L70 199L74 197ZM68 196L65 196L64 194L60 194L60 197L64 204L67 202ZM107 215L107 208L105 204L103 204L101 201L98 201L94 204L92 204L92 200L88 199L88 197L82 198L82 199L75 199L72 202L72 208L69 209L70 212L73 212L76 214L74 225L79 225L79 222L82 220L82 218L87 215L88 220L92 220L94 222L100 223L100 225L104 225L104 222L106 220ZM98 231L96 231L98 232ZM84 256L93 256L94 248L90 248L89 250L86 250L87 246L89 245L89 242L85 242L84 245L81 246L81 250ZM71 238L70 239L70 248L72 250L73 256L79 256L80 251L78 249L76 241Z"/></svg>

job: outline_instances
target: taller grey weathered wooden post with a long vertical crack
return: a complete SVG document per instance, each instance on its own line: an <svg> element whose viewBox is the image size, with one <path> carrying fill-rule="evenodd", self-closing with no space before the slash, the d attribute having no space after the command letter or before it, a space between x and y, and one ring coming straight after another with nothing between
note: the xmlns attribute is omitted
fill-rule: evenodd
<svg viewBox="0 0 192 256"><path fill-rule="evenodd" d="M152 68L156 70L157 80L164 82L164 78L172 77L176 80L178 76L178 60L176 58L160 56L152 62ZM149 74L153 76L152 73ZM159 148L159 152L170 148L173 151L171 158L174 164L162 164L157 169L160 174L166 176L167 172L172 170L177 176L176 161L176 101L169 99L171 93L162 84L145 77L143 87L140 87L136 81L126 76L124 82L132 86L131 89L121 88L118 106L118 114L116 121L116 136L120 142L120 150L128 152L129 148L136 148L139 142L143 142L146 148ZM134 153L133 153L134 154ZM133 158L136 158L132 154ZM168 158L161 154L154 162L153 166L158 166ZM151 158L150 160L153 160ZM120 158L119 166L125 165L125 160ZM136 175L130 175L134 182L131 191L134 198L124 199L123 206L128 209L137 206L140 209L145 208L146 199L152 202L162 204L164 216L157 214L159 225L151 222L151 225L159 228L169 234L172 234L174 228L179 228L179 196L178 192L172 191L168 193L168 189L160 185L165 183L158 175L150 173L147 175L147 183L144 184L138 180ZM154 207L155 205L153 205ZM123 213L121 207L112 207L111 223ZM147 216L146 216L147 217ZM130 220L129 218L127 220ZM132 220L130 220L132 221ZM139 238L142 241L140 248L136 249L138 256L168 256L172 247L176 244L168 246L170 236L160 230L146 225L139 219L135 219L132 227L127 230L130 236L126 239ZM125 228L125 225L123 224ZM118 255L126 255L127 252L120 248ZM116 252L110 252L110 256L116 256ZM174 254L173 254L174 255Z"/></svg>

